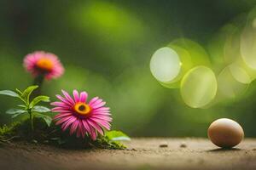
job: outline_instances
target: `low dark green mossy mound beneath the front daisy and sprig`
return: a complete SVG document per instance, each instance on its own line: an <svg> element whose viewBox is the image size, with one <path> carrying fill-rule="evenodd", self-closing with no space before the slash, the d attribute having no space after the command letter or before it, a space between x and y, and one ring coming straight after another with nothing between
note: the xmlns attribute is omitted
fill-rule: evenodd
<svg viewBox="0 0 256 170"><path fill-rule="evenodd" d="M62 132L61 127L55 126L54 124L49 124L49 126L47 126L44 120L38 116L34 118L34 122L34 133L30 133L29 120L16 122L10 126L4 125L3 127L0 127L0 141L36 142L38 144L51 144L68 149L99 148L123 150L126 148L124 144L121 144L119 141L113 141L106 135L99 136L96 140L90 139L90 136L87 135L85 135L84 139L77 138L75 134L70 135L68 132Z"/></svg>

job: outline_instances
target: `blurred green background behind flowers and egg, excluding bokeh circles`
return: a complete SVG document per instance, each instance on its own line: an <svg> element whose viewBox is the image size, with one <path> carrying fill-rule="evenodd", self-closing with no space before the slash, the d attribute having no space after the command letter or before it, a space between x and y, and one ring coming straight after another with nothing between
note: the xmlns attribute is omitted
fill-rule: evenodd
<svg viewBox="0 0 256 170"><path fill-rule="evenodd" d="M160 86L148 65L156 49L178 37L207 48L222 26L254 5L253 0L2 0L0 89L31 85L23 58L45 50L60 57L66 72L44 83L44 94L55 100L61 89L77 88L98 95L111 107L113 128L131 136L206 137L212 121L229 117L253 137L255 82L239 99L192 109L179 89ZM16 103L0 96L0 105L0 124L11 122L4 112Z"/></svg>

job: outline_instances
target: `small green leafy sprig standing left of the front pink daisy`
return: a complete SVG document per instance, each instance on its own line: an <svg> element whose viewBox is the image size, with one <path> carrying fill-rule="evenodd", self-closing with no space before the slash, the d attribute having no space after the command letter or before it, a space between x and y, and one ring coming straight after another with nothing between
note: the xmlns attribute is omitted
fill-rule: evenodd
<svg viewBox="0 0 256 170"><path fill-rule="evenodd" d="M30 126L31 131L34 131L34 124L33 124L33 118L39 117L46 122L46 124L49 126L52 118L50 116L46 116L42 113L49 112L49 108L44 107L42 105L38 105L39 102L49 102L49 97L44 95L39 95L33 99L31 98L32 92L37 89L38 86L30 86L26 88L23 92L21 92L19 89L16 88L15 91L11 90L2 90L0 91L0 94L8 95L17 99L20 99L22 101L22 105L18 105L19 109L9 109L6 111L7 114L12 115L12 118L15 118L17 116L21 116L26 114L29 116L30 120Z"/></svg>

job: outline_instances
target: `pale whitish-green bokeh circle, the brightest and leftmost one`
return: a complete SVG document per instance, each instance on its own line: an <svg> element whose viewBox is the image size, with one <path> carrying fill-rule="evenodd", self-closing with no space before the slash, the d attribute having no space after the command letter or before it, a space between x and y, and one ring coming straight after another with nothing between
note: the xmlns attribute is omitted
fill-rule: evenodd
<svg viewBox="0 0 256 170"><path fill-rule="evenodd" d="M160 82L172 82L181 70L181 61L172 48L160 48L150 60L150 71Z"/></svg>

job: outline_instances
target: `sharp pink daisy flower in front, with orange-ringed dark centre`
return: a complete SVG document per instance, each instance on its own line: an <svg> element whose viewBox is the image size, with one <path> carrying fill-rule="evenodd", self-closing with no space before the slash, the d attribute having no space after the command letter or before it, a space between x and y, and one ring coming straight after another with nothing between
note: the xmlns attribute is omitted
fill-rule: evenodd
<svg viewBox="0 0 256 170"><path fill-rule="evenodd" d="M56 125L61 125L63 131L69 127L69 133L76 133L77 137L84 138L85 134L89 134L90 138L96 140L97 134L104 134L103 128L110 130L109 107L105 107L102 99L95 97L87 102L88 94L82 92L79 94L77 90L73 90L73 98L62 90L61 95L56 95L61 101L51 103L55 108L54 112L59 114L54 117Z"/></svg>

